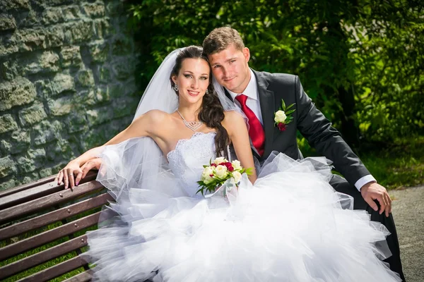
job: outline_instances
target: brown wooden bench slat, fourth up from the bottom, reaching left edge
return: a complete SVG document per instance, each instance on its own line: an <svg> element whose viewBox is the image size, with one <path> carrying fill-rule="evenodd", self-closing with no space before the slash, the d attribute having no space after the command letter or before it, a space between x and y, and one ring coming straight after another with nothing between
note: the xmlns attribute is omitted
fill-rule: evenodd
<svg viewBox="0 0 424 282"><path fill-rule="evenodd" d="M28 239L21 240L11 245L7 245L6 247L2 247L0 249L0 260L8 259L9 257L18 255L21 252L31 250L40 245L44 245L45 243L49 243L61 237L64 237L65 235L80 231L83 228L93 226L98 223L100 213L101 212L90 214L89 216L83 217L82 219L72 221L70 223L64 224L63 226L59 226L57 228L45 231Z"/></svg>

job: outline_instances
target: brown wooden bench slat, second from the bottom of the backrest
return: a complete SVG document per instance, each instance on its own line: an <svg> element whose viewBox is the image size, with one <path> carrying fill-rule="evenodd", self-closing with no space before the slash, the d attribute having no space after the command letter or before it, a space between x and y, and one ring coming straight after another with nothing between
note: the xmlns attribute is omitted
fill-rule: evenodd
<svg viewBox="0 0 424 282"><path fill-rule="evenodd" d="M54 277L66 274L67 272L78 269L83 265L87 264L81 257L73 257L68 259L66 262L61 262L55 266L49 267L48 269L42 270L36 274L20 279L18 282L42 282L52 279Z"/></svg>

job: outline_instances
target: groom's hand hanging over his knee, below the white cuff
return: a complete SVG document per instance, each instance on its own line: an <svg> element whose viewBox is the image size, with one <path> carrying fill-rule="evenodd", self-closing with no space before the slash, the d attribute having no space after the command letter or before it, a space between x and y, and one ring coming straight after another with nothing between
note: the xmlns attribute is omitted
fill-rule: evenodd
<svg viewBox="0 0 424 282"><path fill-rule="evenodd" d="M378 207L374 200L377 200L380 204L379 214L385 212L386 216L389 216L389 213L391 213L391 199L386 188L378 183L370 182L360 188L360 194L363 196L365 202L376 212Z"/></svg>

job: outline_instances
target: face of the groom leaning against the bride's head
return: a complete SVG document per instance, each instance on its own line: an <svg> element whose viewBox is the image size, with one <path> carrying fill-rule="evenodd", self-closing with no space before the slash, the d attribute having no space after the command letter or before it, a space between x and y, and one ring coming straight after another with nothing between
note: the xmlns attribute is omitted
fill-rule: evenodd
<svg viewBox="0 0 424 282"><path fill-rule="evenodd" d="M242 50L232 44L215 54L208 56L212 73L220 85L235 93L245 91L250 80L249 65L250 51L247 47Z"/></svg>

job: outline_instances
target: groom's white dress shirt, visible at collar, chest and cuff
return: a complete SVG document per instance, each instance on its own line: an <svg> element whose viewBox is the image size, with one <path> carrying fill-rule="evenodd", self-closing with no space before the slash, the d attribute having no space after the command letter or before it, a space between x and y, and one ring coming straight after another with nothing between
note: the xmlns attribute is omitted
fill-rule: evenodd
<svg viewBox="0 0 424 282"><path fill-rule="evenodd" d="M237 97L240 94L245 94L247 96L246 106L248 106L249 109L251 109L254 112L255 116L257 116L257 118L261 122L261 125L264 126L264 121L262 120L261 103L259 102L257 80L256 80L256 77L254 76L252 69L249 69L249 71L250 71L250 81L245 91L243 91L242 93L235 93L228 89L227 91L228 93L230 93L230 96L232 100L234 101L234 104L240 107L240 109L241 109L240 103L235 99L235 97ZM371 174L368 174L367 176L363 176L359 178L359 180L356 181L355 183L355 187L356 189L358 189L358 191L360 191L360 188L362 188L363 185L370 182L377 182L377 180L375 180L375 178L372 177Z"/></svg>

